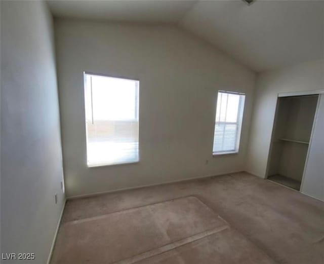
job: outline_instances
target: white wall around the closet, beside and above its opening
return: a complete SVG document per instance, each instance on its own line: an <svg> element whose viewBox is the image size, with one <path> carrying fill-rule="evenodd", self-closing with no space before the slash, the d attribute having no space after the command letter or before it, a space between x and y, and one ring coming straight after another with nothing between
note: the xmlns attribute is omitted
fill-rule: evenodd
<svg viewBox="0 0 324 264"><path fill-rule="evenodd" d="M265 177L278 93L324 89L324 61L258 74L246 170Z"/></svg>

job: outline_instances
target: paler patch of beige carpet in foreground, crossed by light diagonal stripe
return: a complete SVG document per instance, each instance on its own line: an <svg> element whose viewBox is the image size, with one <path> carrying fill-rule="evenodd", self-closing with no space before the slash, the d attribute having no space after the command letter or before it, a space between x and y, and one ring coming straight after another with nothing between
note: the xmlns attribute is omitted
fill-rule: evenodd
<svg viewBox="0 0 324 264"><path fill-rule="evenodd" d="M55 264L189 264L217 259L273 263L193 196L66 222L53 255Z"/></svg>

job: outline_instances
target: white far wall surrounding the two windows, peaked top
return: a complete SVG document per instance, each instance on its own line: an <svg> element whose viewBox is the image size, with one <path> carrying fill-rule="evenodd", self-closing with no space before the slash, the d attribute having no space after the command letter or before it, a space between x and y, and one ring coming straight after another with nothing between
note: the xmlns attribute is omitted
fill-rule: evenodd
<svg viewBox="0 0 324 264"><path fill-rule="evenodd" d="M67 196L244 169L253 72L173 26L56 20L55 33ZM138 164L87 168L83 71L140 80ZM219 89L247 98L239 154L213 158Z"/></svg>

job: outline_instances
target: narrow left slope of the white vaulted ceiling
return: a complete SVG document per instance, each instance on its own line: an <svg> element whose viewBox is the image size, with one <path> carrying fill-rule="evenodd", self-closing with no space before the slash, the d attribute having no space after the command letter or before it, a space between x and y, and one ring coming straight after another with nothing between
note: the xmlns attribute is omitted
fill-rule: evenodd
<svg viewBox="0 0 324 264"><path fill-rule="evenodd" d="M121 22L178 23L197 1L52 0L54 16Z"/></svg>

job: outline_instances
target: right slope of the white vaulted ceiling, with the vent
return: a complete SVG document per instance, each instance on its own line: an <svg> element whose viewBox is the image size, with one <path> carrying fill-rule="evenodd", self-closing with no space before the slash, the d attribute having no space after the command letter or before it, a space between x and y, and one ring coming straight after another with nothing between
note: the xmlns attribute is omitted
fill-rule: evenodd
<svg viewBox="0 0 324 264"><path fill-rule="evenodd" d="M201 1L181 25L256 71L324 54L322 1Z"/></svg>

